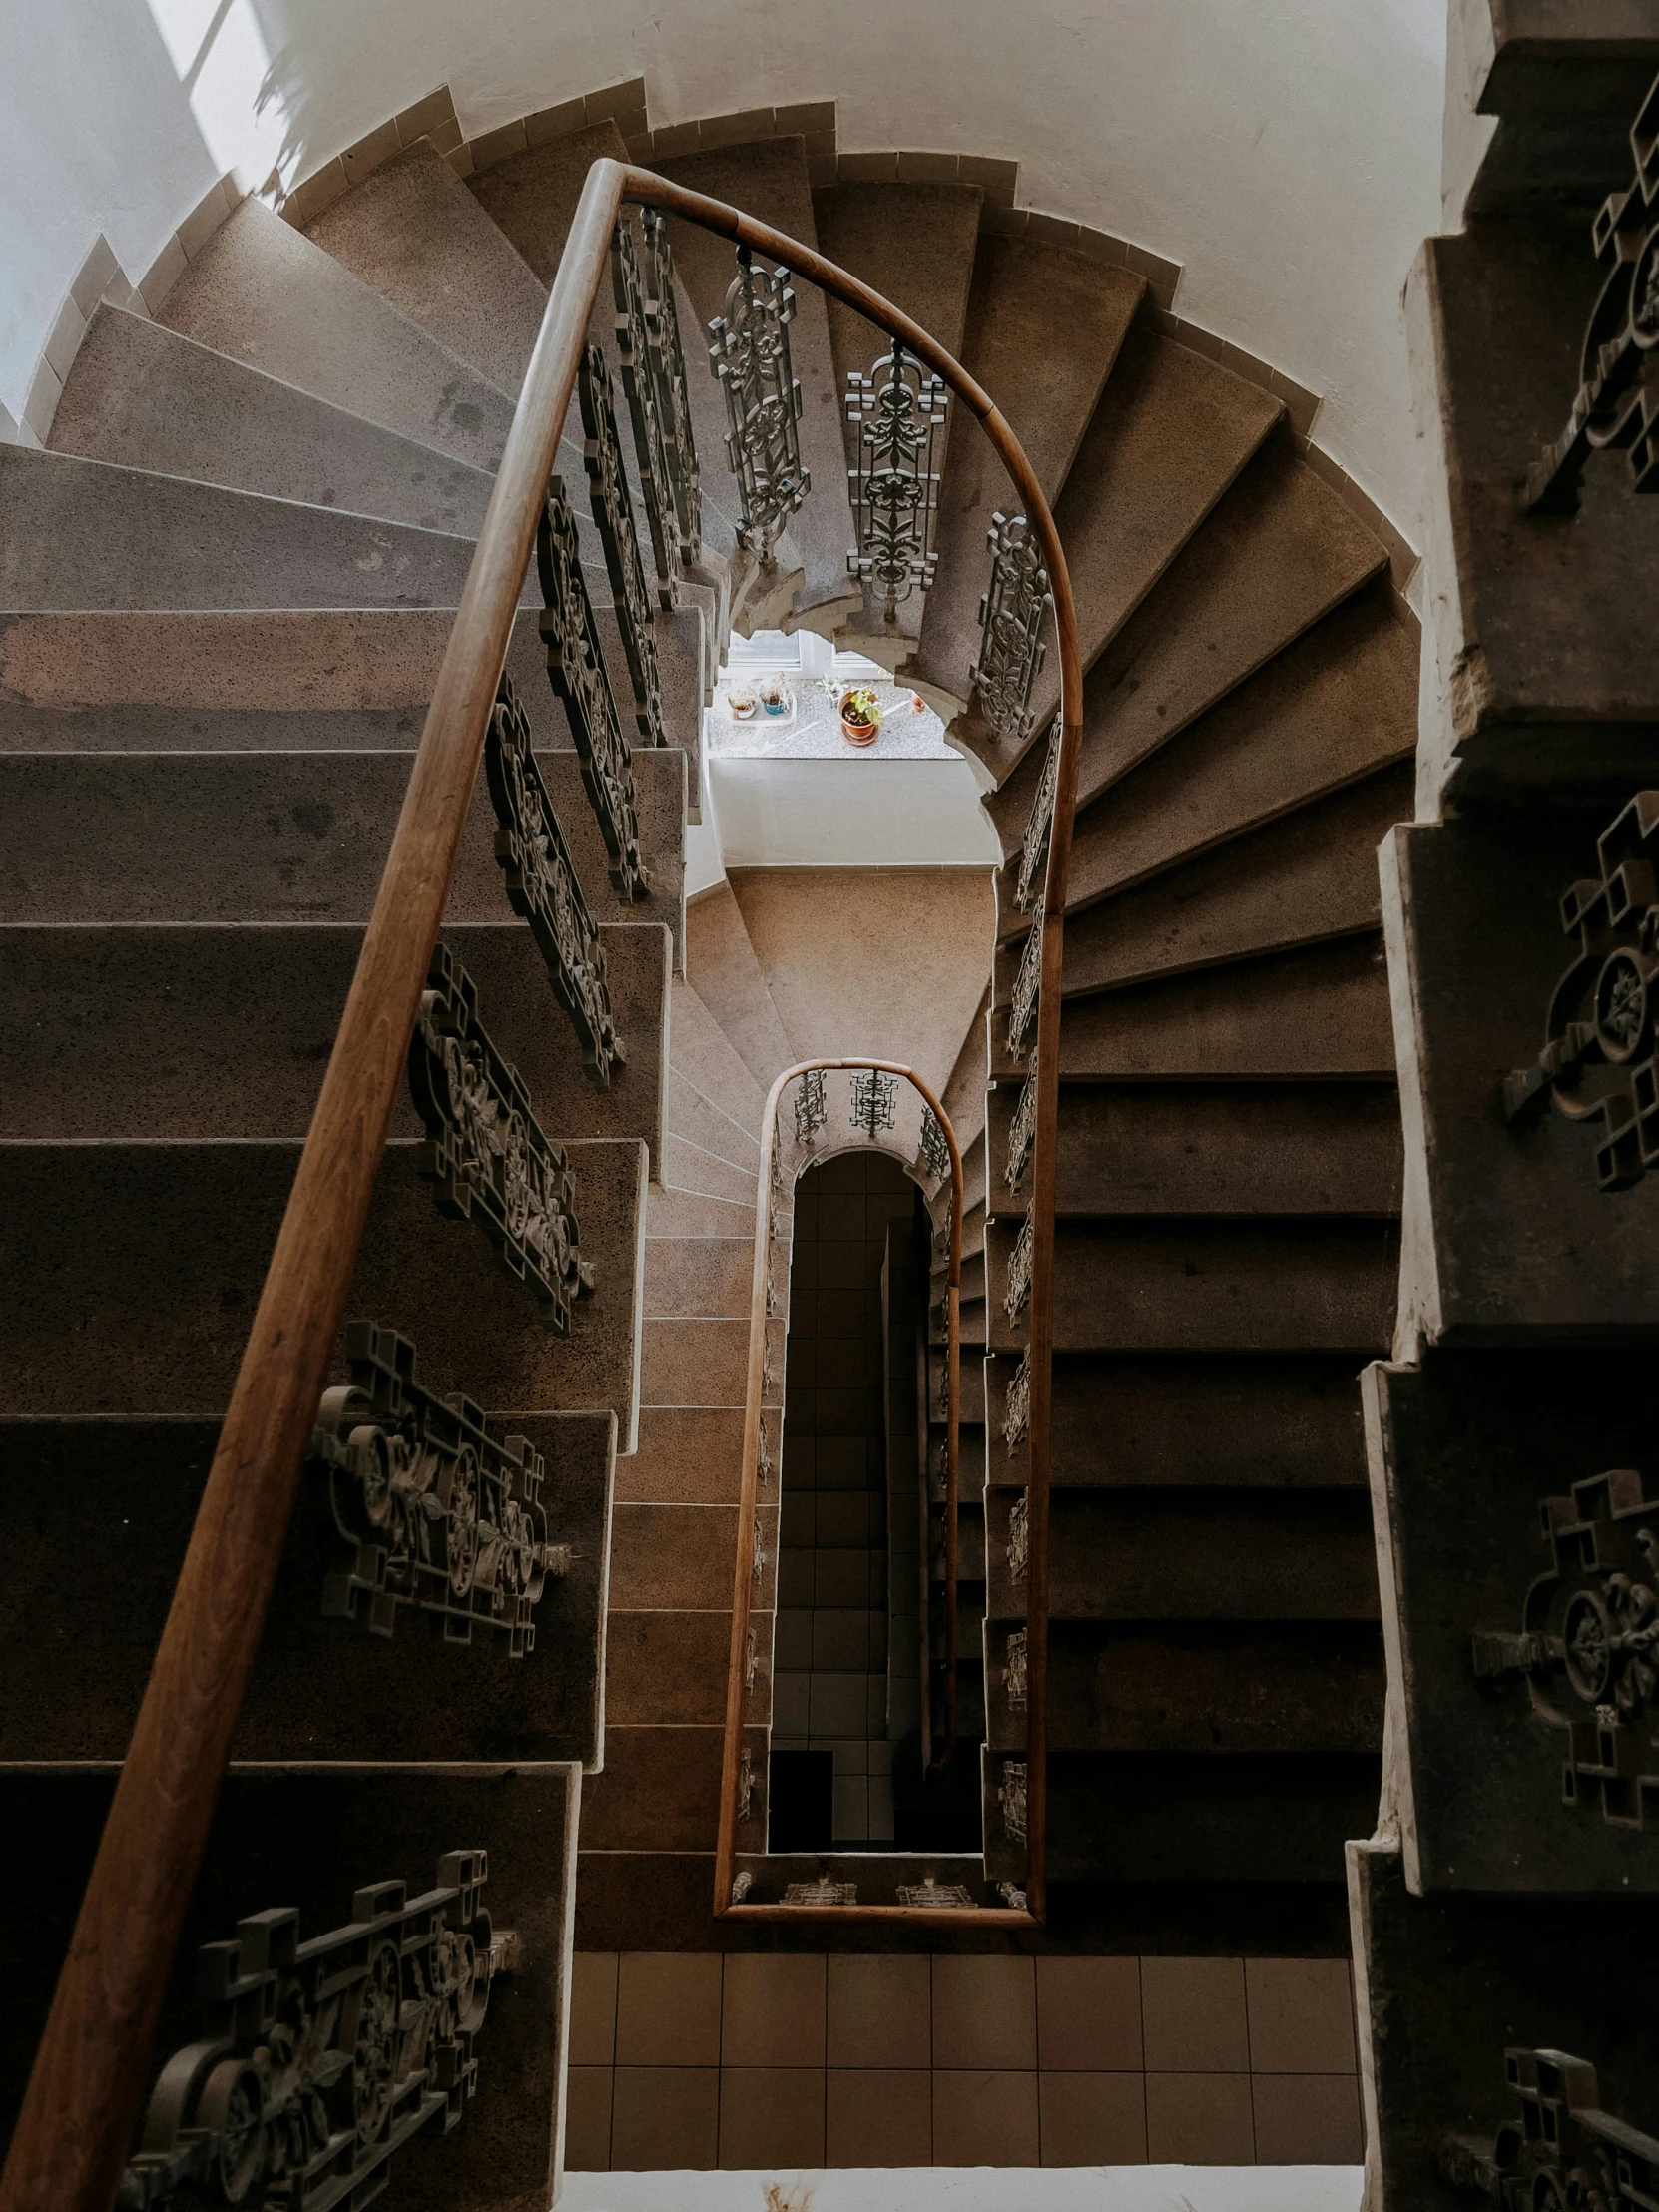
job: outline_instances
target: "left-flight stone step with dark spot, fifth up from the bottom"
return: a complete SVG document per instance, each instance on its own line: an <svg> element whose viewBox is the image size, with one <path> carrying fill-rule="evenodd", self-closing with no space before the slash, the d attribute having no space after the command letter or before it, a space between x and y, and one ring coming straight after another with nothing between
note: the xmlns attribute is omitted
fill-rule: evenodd
<svg viewBox="0 0 1659 2212"><path fill-rule="evenodd" d="M635 754L648 898L624 907L575 752L538 763L599 922L661 922L681 942L681 752ZM356 922L374 907L409 754L13 752L0 754L4 922ZM451 922L509 916L495 807L473 790Z"/></svg>

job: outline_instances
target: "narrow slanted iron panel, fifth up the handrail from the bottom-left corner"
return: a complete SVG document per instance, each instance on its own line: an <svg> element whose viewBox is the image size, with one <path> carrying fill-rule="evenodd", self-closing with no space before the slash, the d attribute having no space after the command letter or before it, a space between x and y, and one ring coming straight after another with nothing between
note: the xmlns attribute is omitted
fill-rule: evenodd
<svg viewBox="0 0 1659 2212"><path fill-rule="evenodd" d="M611 677L599 650L593 602L582 575L575 515L557 476L549 480L542 502L535 568L544 602L546 677L564 706L571 739L582 757L582 781L599 821L604 849L611 856L611 883L617 898L630 905L650 891L650 872L639 860L633 754L622 734L617 701L611 695Z"/></svg>

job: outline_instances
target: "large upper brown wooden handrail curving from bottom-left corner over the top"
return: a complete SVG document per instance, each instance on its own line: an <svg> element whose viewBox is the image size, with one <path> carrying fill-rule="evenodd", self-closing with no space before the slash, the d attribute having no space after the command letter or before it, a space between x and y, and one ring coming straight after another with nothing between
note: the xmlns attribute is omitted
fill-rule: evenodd
<svg viewBox="0 0 1659 2212"><path fill-rule="evenodd" d="M989 394L929 332L880 292L770 223L653 170L599 159L582 186L478 533L190 1546L18 2112L0 2177L0 2212L108 2212L128 2157L161 1991L265 1624L305 1442L338 1340L507 661L518 593L624 199L750 246L902 338L984 427L1048 568L1062 745L1042 907L1026 1447L1026 1617L1033 1626L1044 1624L1029 1648L1026 1896L1031 1913L1042 1918L1060 969L1082 752L1082 653L1066 555L1024 447ZM958 1922L962 1916L949 1918ZM1009 1924L1013 1916L995 1918Z"/></svg>

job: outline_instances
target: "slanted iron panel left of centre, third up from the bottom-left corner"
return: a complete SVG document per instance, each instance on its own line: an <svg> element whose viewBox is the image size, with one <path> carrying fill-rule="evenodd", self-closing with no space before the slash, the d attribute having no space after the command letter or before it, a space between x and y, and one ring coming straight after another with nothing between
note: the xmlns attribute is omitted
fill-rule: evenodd
<svg viewBox="0 0 1659 2212"><path fill-rule="evenodd" d="M478 987L438 945L409 1040L409 1091L427 1126L416 1170L436 1183L438 1212L476 1219L509 1274L535 1292L546 1325L571 1327L571 1303L593 1290L575 1225L575 1181L564 1148L531 1110L478 1020Z"/></svg>

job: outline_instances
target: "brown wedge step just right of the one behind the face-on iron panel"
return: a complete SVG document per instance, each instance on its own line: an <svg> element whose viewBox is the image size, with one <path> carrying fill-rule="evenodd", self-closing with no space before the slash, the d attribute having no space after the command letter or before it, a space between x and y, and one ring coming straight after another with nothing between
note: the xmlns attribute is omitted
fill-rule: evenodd
<svg viewBox="0 0 1659 2212"><path fill-rule="evenodd" d="M1053 504L1146 292L1126 268L1031 239L980 239L962 367L998 403ZM940 484L940 562L914 675L967 699L991 575L991 515L1013 515L1013 478L973 429L951 442Z"/></svg>

